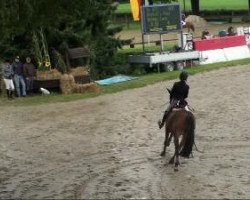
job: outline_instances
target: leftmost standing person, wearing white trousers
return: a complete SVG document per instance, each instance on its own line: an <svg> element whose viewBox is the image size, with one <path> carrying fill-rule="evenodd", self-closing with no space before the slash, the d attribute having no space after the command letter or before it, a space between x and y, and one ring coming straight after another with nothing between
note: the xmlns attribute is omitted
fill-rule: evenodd
<svg viewBox="0 0 250 200"><path fill-rule="evenodd" d="M5 59L5 61L3 63L2 75L3 75L5 87L6 87L7 98L12 99L13 92L15 90L14 83L12 80L12 78L14 76L14 71L12 69L10 62L9 62L9 59Z"/></svg>

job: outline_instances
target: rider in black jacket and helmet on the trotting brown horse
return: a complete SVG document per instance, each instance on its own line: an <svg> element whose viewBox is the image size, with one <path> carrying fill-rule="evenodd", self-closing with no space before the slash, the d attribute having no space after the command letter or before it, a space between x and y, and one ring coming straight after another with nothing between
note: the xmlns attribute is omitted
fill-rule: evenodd
<svg viewBox="0 0 250 200"><path fill-rule="evenodd" d="M179 78L180 81L175 82L173 88L169 91L170 103L167 105L167 109L165 110L162 121L158 121L160 129L164 126L168 114L171 112L173 107L185 107L187 105L187 101L185 99L188 97L189 92L189 86L187 84L188 73L182 71Z"/></svg>

